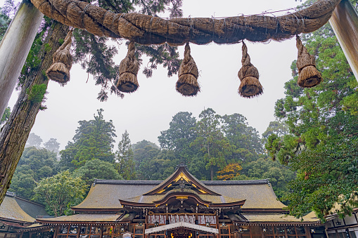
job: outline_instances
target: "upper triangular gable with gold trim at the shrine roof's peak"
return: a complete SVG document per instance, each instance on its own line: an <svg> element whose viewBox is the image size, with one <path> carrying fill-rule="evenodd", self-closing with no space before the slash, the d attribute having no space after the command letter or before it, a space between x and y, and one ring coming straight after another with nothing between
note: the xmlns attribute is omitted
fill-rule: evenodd
<svg viewBox="0 0 358 238"><path fill-rule="evenodd" d="M166 194L171 190L177 189L193 190L198 194L221 196L221 194L210 190L203 183L200 183L199 180L197 180L194 176L191 175L191 173L187 171L186 166L184 165L179 165L177 171L172 173L169 178L160 183L160 185L157 187L153 188L153 190L143 195Z"/></svg>

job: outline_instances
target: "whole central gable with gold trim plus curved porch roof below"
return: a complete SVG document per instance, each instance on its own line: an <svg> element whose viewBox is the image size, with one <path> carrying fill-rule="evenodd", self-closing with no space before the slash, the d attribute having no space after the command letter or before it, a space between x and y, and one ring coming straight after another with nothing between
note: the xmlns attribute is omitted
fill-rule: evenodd
<svg viewBox="0 0 358 238"><path fill-rule="evenodd" d="M201 208L238 207L245 200L224 197L210 190L188 172L184 164L160 185L138 197L120 199L123 207L165 208L167 211L196 212Z"/></svg>

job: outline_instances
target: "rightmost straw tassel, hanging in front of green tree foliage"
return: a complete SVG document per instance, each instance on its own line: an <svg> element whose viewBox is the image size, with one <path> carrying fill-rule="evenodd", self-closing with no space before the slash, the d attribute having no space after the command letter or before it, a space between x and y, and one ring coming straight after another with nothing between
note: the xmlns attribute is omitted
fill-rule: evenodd
<svg viewBox="0 0 358 238"><path fill-rule="evenodd" d="M297 84L302 88L312 88L323 81L321 73L316 68L314 55L309 55L307 48L303 46L300 37L296 36L296 46L298 48L298 81Z"/></svg>

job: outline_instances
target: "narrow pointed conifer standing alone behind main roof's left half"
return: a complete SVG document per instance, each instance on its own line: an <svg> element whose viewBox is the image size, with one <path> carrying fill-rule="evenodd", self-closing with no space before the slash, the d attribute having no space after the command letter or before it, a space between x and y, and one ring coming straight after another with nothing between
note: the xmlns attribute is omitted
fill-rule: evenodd
<svg viewBox="0 0 358 238"><path fill-rule="evenodd" d="M134 180L136 178L134 154L127 130L124 131L122 140L118 143L115 160L117 171L125 180Z"/></svg>

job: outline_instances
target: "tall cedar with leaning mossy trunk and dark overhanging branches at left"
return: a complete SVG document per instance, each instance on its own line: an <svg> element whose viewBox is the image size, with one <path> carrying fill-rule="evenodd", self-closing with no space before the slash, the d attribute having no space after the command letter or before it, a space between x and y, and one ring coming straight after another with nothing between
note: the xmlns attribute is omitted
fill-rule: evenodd
<svg viewBox="0 0 358 238"><path fill-rule="evenodd" d="M181 0L89 0L89 2L114 13L129 13L138 8L142 13L149 15L156 15L167 9L170 10L170 17L181 17L182 15ZM44 72L51 65L53 53L63 43L68 32L67 26L48 18L44 19L44 24L39 29L39 34L27 56L19 78L20 94L17 103L0 134L0 165L6 164L6 166L0 166L0 204L10 185L37 112L46 108L42 105L42 100L49 79ZM4 20L0 22L1 29L6 25L3 24L4 22ZM76 29L73 35L75 38L74 60L81 62L82 67L94 75L96 84L101 85L98 99L107 100L108 91L122 97L122 93L114 86L118 79L118 65L113 62L113 57L117 53L116 49L106 45L108 39L105 37L96 37L79 29ZM152 70L158 64L167 67L169 76L179 69L179 53L175 47L164 44L162 46L138 46L137 49L139 57L145 54L150 58L151 64L148 64L148 67L143 70L147 77L151 76Z"/></svg>

